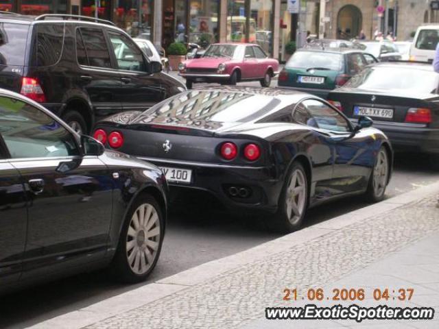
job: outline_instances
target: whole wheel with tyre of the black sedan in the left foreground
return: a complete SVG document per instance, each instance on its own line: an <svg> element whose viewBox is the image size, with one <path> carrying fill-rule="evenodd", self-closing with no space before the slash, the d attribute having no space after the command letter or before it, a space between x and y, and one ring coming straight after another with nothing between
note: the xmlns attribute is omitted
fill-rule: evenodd
<svg viewBox="0 0 439 329"><path fill-rule="evenodd" d="M160 256L164 217L156 199L141 195L134 200L123 223L110 273L116 280L137 283L150 275Z"/></svg>

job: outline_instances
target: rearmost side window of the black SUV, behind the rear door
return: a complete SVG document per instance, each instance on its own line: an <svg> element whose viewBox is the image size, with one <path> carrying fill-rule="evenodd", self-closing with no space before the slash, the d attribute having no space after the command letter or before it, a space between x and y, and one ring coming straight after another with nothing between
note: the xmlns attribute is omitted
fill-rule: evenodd
<svg viewBox="0 0 439 329"><path fill-rule="evenodd" d="M50 66L60 60L64 44L63 24L36 24L36 43L32 66Z"/></svg>

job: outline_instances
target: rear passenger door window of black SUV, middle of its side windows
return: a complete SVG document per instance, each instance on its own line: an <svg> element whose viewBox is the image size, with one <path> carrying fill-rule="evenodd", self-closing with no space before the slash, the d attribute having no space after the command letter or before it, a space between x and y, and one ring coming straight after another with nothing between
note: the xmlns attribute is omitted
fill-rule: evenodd
<svg viewBox="0 0 439 329"><path fill-rule="evenodd" d="M102 30L81 27L80 32L86 49L88 65L104 68L111 67L110 53L108 52L108 47Z"/></svg>

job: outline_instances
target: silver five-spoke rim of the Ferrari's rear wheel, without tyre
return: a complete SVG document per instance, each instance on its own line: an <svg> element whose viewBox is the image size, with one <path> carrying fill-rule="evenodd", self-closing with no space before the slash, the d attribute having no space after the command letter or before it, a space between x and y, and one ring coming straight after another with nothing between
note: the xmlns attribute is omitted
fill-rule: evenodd
<svg viewBox="0 0 439 329"><path fill-rule="evenodd" d="M305 174L296 169L289 176L289 182L287 185L287 216L289 223L296 224L302 218L302 214L305 211L307 201L307 181Z"/></svg>

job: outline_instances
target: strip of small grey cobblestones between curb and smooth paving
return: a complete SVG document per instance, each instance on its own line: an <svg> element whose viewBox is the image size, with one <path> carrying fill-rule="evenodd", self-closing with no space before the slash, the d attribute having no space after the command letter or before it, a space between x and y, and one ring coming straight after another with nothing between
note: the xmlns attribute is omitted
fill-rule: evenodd
<svg viewBox="0 0 439 329"><path fill-rule="evenodd" d="M265 307L285 306L282 300L285 287L296 287L300 294L309 287L327 287L379 260L385 262L401 249L438 232L436 203L436 195L431 195L366 221L332 230L87 328L248 326L263 317ZM438 247L439 242L436 250ZM439 274L437 282L439 284Z"/></svg>

